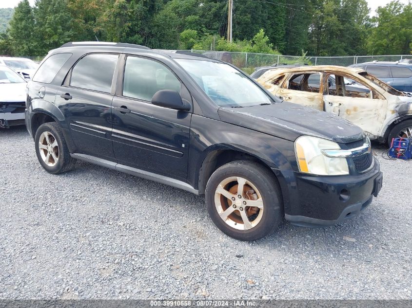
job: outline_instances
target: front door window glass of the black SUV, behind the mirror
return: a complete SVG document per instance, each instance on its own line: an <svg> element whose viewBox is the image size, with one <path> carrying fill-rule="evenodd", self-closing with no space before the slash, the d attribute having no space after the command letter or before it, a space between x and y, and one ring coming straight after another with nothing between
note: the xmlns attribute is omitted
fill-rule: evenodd
<svg viewBox="0 0 412 308"><path fill-rule="evenodd" d="M128 56L124 69L123 96L152 101L160 90L180 91L180 81L163 64Z"/></svg>

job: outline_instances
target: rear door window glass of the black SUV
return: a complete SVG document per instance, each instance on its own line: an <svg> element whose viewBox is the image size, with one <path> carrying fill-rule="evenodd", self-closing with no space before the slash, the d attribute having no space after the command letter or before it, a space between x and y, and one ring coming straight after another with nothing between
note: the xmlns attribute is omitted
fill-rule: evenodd
<svg viewBox="0 0 412 308"><path fill-rule="evenodd" d="M70 86L110 93L118 54L87 54L72 71Z"/></svg>

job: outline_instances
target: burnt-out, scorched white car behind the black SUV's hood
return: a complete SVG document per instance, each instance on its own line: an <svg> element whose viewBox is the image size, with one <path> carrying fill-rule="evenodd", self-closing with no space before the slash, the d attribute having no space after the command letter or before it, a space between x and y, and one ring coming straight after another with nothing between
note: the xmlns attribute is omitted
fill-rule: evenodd
<svg viewBox="0 0 412 308"><path fill-rule="evenodd" d="M392 138L412 138L411 95L362 69L320 65L278 69L257 81L283 100L351 121L371 139L391 144Z"/></svg>

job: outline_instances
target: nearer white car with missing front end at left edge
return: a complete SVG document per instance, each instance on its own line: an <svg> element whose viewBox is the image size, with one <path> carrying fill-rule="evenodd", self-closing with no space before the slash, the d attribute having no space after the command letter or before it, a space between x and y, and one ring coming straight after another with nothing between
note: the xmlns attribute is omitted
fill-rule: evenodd
<svg viewBox="0 0 412 308"><path fill-rule="evenodd" d="M0 66L0 127L24 125L26 81L7 66Z"/></svg>

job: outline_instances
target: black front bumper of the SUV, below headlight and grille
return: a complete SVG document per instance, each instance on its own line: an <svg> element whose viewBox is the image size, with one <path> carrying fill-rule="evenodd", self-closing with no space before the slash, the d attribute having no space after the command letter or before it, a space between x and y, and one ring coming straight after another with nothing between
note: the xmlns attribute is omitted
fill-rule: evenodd
<svg viewBox="0 0 412 308"><path fill-rule="evenodd" d="M382 172L376 159L365 173L347 176L313 176L294 172L285 218L295 225L330 226L350 219L366 207L382 187Z"/></svg>

